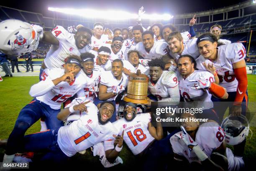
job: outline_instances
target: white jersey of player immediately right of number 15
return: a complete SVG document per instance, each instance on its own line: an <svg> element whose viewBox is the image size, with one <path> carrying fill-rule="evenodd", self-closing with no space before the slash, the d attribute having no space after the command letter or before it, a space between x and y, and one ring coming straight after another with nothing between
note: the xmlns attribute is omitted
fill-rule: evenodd
<svg viewBox="0 0 256 171"><path fill-rule="evenodd" d="M95 98L95 94L99 92L99 83L100 83L100 72L99 71L92 71L90 77L82 72L84 77L87 77L87 83L84 85L84 94L86 100L90 100L93 102Z"/></svg>

